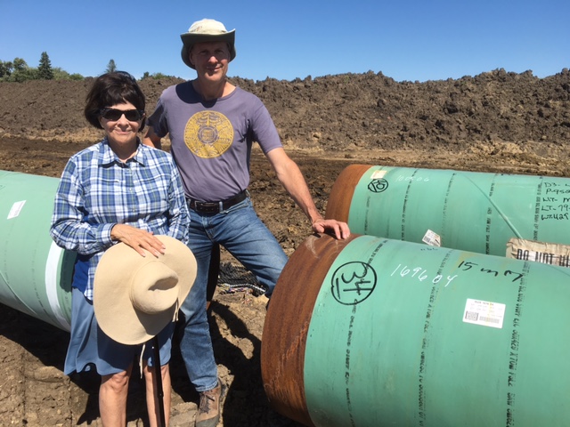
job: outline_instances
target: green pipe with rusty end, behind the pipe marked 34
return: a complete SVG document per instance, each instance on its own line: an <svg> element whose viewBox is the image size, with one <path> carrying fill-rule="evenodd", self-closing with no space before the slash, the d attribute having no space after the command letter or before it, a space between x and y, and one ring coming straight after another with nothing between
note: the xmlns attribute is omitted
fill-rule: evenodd
<svg viewBox="0 0 570 427"><path fill-rule="evenodd" d="M328 218L351 231L504 256L510 238L570 244L570 179L351 165L330 193Z"/></svg>

